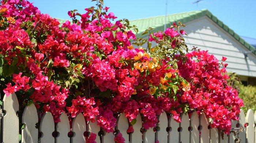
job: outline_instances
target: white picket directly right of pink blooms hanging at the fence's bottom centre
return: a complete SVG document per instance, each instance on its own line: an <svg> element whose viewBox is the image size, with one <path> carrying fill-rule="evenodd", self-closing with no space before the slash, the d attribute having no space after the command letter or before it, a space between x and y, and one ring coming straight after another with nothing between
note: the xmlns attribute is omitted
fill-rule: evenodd
<svg viewBox="0 0 256 143"><path fill-rule="evenodd" d="M129 135L127 134L128 127L128 119L124 116L124 114L121 114L118 119L117 128L122 133L125 143L129 143Z"/></svg>

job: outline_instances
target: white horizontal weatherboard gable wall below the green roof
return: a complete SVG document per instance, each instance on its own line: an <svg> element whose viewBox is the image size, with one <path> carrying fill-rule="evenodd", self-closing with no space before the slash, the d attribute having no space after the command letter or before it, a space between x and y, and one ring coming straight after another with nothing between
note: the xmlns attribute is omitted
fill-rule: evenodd
<svg viewBox="0 0 256 143"><path fill-rule="evenodd" d="M227 71L256 77L256 56L249 53L245 59L243 52L249 50L211 19L203 16L185 24L188 36L184 36L184 39L189 49L195 46L202 50L208 50L219 60L225 56L227 57L226 63L229 64Z"/></svg>

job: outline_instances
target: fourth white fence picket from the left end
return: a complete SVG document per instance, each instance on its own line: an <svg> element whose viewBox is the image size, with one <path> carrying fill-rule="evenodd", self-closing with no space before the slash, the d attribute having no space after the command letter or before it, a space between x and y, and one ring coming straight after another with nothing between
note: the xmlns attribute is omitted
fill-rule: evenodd
<svg viewBox="0 0 256 143"><path fill-rule="evenodd" d="M68 132L70 131L69 120L64 112L60 115L60 122L57 123L56 130L59 132L56 143L70 143L68 137Z"/></svg>

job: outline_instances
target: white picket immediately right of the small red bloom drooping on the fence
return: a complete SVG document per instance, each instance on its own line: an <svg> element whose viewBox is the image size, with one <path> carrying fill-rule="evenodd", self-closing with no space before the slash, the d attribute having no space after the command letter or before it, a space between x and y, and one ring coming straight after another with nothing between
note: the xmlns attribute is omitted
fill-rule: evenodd
<svg viewBox="0 0 256 143"><path fill-rule="evenodd" d="M180 127L181 127L181 131L180 131L180 142L182 143L189 143L189 131L188 131L188 127L189 127L189 117L188 114L182 114L181 116L181 123L180 123Z"/></svg>

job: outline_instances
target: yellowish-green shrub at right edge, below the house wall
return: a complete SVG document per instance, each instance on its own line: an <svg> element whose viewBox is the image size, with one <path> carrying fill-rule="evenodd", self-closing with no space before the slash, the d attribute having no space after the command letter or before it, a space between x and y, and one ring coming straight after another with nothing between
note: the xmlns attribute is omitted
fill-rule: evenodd
<svg viewBox="0 0 256 143"><path fill-rule="evenodd" d="M239 97L244 100L244 107L242 109L245 114L248 109L256 111L256 86L244 86L240 84L238 87L240 89Z"/></svg>

